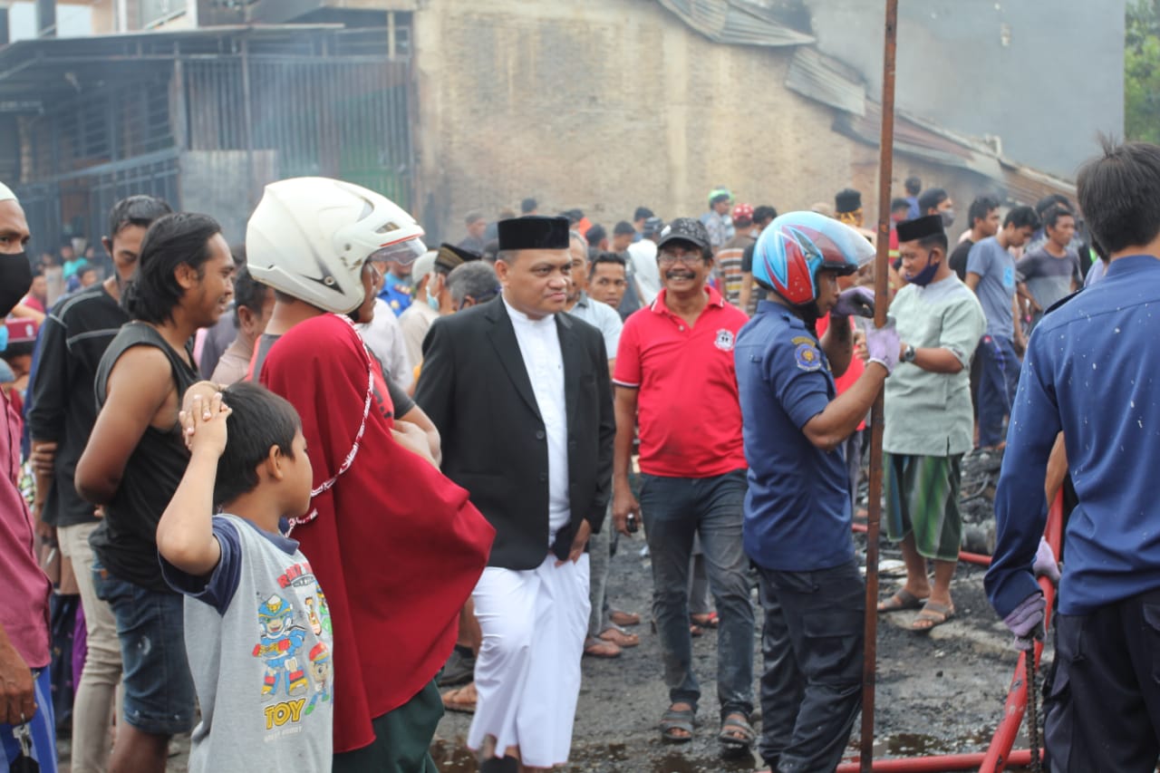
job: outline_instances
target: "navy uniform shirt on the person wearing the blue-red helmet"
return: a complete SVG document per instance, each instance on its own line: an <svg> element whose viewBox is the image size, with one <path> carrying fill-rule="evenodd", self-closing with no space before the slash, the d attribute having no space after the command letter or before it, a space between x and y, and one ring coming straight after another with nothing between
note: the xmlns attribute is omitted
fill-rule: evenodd
<svg viewBox="0 0 1160 773"><path fill-rule="evenodd" d="M802 432L838 393L818 338L789 309L762 301L738 333L733 361L749 463L746 554L780 571L853 561L846 461Z"/></svg>

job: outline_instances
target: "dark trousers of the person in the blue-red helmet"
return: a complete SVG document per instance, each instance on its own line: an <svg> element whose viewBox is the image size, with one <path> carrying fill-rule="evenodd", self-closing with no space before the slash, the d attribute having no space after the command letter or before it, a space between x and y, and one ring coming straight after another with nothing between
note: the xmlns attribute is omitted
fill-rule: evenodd
<svg viewBox="0 0 1160 773"><path fill-rule="evenodd" d="M759 750L781 773L833 771L862 700L865 586L857 564L759 566L757 577L766 612Z"/></svg>

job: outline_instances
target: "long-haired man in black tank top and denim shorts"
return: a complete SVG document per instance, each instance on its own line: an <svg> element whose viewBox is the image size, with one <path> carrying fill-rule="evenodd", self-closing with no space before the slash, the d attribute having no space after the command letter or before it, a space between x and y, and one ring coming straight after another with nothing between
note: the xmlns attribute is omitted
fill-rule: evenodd
<svg viewBox="0 0 1160 773"><path fill-rule="evenodd" d="M123 304L130 320L96 373L100 413L77 464L77 491L104 508L89 543L96 593L117 620L124 718L109 768L164 773L169 738L193 727L182 598L161 578L157 523L188 453L177 410L198 381L189 342L233 295L233 258L204 215L159 218L142 243Z"/></svg>

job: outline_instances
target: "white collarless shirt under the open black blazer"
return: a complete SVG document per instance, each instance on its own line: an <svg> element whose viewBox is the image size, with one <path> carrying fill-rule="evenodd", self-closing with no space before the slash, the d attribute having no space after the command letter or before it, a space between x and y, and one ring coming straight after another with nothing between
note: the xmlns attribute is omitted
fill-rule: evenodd
<svg viewBox="0 0 1160 773"><path fill-rule="evenodd" d="M568 500L568 422L564 398L564 354L556 330L556 315L531 319L503 298L515 340L520 344L523 367L531 381L536 406L548 435L548 543L572 520Z"/></svg>

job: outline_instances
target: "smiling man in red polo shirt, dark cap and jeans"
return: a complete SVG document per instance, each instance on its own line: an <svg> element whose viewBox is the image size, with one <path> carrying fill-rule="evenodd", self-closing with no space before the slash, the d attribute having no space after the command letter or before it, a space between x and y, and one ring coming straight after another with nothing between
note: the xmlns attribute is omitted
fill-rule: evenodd
<svg viewBox="0 0 1160 773"><path fill-rule="evenodd" d="M662 289L621 333L616 384L612 518L629 534L643 515L653 570L653 616L670 706L661 736L693 738L701 689L693 673L688 572L693 537L709 568L720 615L717 698L725 752L753 744L753 606L741 546L746 462L733 341L748 319L705 287L713 260L705 226L677 218L660 233ZM629 489L633 429L640 427L640 501Z"/></svg>

